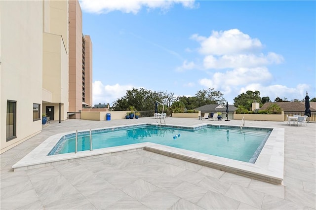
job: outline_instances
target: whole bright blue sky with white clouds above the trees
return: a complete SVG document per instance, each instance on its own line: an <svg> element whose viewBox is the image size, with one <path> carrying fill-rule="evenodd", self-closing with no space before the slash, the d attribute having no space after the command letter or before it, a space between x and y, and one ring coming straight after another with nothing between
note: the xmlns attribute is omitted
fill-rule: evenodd
<svg viewBox="0 0 316 210"><path fill-rule="evenodd" d="M93 104L144 88L316 97L316 1L79 0Z"/></svg>

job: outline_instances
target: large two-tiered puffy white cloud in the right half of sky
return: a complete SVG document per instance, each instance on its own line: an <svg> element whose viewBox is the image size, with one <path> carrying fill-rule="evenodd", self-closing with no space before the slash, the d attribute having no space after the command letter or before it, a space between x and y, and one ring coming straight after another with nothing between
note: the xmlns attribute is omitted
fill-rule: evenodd
<svg viewBox="0 0 316 210"><path fill-rule="evenodd" d="M213 31L209 37L194 34L191 38L200 44L198 52L204 56L205 69L257 68L284 61L274 52L261 53L263 45L260 40L238 29Z"/></svg>

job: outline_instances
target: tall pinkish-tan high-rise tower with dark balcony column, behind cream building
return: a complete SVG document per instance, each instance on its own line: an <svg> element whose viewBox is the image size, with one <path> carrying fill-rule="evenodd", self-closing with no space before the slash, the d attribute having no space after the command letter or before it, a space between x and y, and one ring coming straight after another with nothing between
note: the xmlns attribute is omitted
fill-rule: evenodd
<svg viewBox="0 0 316 210"><path fill-rule="evenodd" d="M69 2L69 111L92 106L92 42L82 35L82 12L78 0Z"/></svg>

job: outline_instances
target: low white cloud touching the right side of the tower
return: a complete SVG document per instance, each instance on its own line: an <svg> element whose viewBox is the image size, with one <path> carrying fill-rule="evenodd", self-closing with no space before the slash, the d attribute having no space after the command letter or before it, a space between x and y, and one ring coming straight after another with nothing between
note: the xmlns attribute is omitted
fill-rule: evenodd
<svg viewBox="0 0 316 210"><path fill-rule="evenodd" d="M103 85L101 81L94 81L92 83L92 99L95 104L111 104L117 99L126 95L127 90L131 90L132 85Z"/></svg>

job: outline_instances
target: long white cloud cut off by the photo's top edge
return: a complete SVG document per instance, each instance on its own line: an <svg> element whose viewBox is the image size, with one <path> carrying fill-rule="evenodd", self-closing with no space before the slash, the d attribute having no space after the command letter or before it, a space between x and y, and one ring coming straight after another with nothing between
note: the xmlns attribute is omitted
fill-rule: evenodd
<svg viewBox="0 0 316 210"><path fill-rule="evenodd" d="M137 14L143 7L148 10L160 8L168 10L175 3L180 3L186 8L195 8L195 0L79 0L82 10L91 13L109 13L121 11Z"/></svg>

